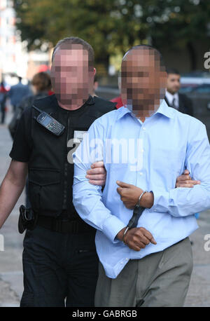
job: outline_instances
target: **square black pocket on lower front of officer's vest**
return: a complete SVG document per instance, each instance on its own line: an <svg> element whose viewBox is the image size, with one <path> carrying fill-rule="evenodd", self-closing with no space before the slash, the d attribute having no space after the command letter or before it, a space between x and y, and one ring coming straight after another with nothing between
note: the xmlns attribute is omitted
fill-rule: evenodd
<svg viewBox="0 0 210 321"><path fill-rule="evenodd" d="M35 211L61 210L61 172L48 168L29 169L29 199Z"/></svg>

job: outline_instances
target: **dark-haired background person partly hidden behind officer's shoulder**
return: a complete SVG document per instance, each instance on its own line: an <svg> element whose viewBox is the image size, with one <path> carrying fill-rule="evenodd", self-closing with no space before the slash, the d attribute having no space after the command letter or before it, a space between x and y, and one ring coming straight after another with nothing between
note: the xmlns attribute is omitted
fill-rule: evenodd
<svg viewBox="0 0 210 321"><path fill-rule="evenodd" d="M15 130L18 127L18 122L25 108L31 107L34 100L41 99L48 95L51 95L51 80L50 75L45 72L39 72L35 74L31 80L31 93L22 98L18 106L16 107L15 114L12 121L8 125L10 135L15 136Z"/></svg>

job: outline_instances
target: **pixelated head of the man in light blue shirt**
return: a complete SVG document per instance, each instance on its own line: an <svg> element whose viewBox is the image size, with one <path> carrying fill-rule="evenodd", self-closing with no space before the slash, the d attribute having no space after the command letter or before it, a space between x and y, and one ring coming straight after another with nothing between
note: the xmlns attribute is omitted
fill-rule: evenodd
<svg viewBox="0 0 210 321"><path fill-rule="evenodd" d="M134 114L151 116L165 97L167 74L152 50L133 49L121 67L121 97Z"/></svg>

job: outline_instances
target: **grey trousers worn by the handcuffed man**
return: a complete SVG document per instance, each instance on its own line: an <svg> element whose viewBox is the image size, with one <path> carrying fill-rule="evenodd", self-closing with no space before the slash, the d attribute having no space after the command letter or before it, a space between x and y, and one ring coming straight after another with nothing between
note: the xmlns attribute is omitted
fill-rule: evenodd
<svg viewBox="0 0 210 321"><path fill-rule="evenodd" d="M183 306L193 271L189 238L143 259L128 261L116 279L99 263L95 306Z"/></svg>

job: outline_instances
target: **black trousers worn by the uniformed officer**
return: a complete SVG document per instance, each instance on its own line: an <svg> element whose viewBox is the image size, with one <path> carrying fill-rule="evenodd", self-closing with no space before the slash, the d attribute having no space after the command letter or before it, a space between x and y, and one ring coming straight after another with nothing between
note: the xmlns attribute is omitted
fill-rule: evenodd
<svg viewBox="0 0 210 321"><path fill-rule="evenodd" d="M26 231L20 306L94 306L98 257L94 233Z"/></svg>

